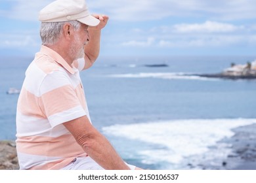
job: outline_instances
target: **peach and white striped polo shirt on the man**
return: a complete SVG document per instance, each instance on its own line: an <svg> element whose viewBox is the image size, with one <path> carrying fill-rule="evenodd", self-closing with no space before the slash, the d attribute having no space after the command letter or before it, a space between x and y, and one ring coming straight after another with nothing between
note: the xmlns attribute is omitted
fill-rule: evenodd
<svg viewBox="0 0 256 183"><path fill-rule="evenodd" d="M16 113L16 148L20 169L61 169L87 156L63 123L89 111L79 71L54 50L42 46L26 70ZM90 120L91 121L91 120Z"/></svg>

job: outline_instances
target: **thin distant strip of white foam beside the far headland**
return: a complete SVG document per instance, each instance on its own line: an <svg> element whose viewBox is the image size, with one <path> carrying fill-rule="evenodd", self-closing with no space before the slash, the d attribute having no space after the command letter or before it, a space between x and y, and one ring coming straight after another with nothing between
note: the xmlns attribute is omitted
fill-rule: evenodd
<svg viewBox="0 0 256 183"><path fill-rule="evenodd" d="M205 78L185 73L130 73L122 75L109 75L115 78L162 78L162 79L186 79L186 80L218 80L217 78Z"/></svg>

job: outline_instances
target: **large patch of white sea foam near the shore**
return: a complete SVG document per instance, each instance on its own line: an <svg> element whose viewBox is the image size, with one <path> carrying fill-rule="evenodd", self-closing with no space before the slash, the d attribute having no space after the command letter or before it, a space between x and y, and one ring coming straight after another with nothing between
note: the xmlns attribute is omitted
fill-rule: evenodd
<svg viewBox="0 0 256 183"><path fill-rule="evenodd" d="M143 163L169 162L178 165L184 158L200 156L209 152L210 146L224 137L232 137L232 128L256 123L256 119L215 119L215 120L171 120L167 122L148 122L141 124L111 125L102 130L114 137L125 137L133 141L155 144L152 149L135 147L144 159ZM142 143L143 144L143 143ZM156 148L161 146L161 148ZM163 148L165 147L165 148ZM132 147L131 147L132 148ZM226 156L227 151L217 150L209 153L208 159ZM207 159L207 158L205 158ZM180 167L179 167L180 168Z"/></svg>

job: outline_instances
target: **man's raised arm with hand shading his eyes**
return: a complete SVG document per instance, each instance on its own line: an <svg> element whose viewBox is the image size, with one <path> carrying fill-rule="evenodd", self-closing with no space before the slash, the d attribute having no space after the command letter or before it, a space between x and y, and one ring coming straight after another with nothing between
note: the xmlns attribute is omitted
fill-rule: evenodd
<svg viewBox="0 0 256 183"><path fill-rule="evenodd" d="M90 39L88 44L85 45L85 67L83 69L91 67L96 58L98 58L98 54L100 53L101 29L103 29L108 22L108 16L106 15L94 16L100 20L100 24L95 27L88 27Z"/></svg>

